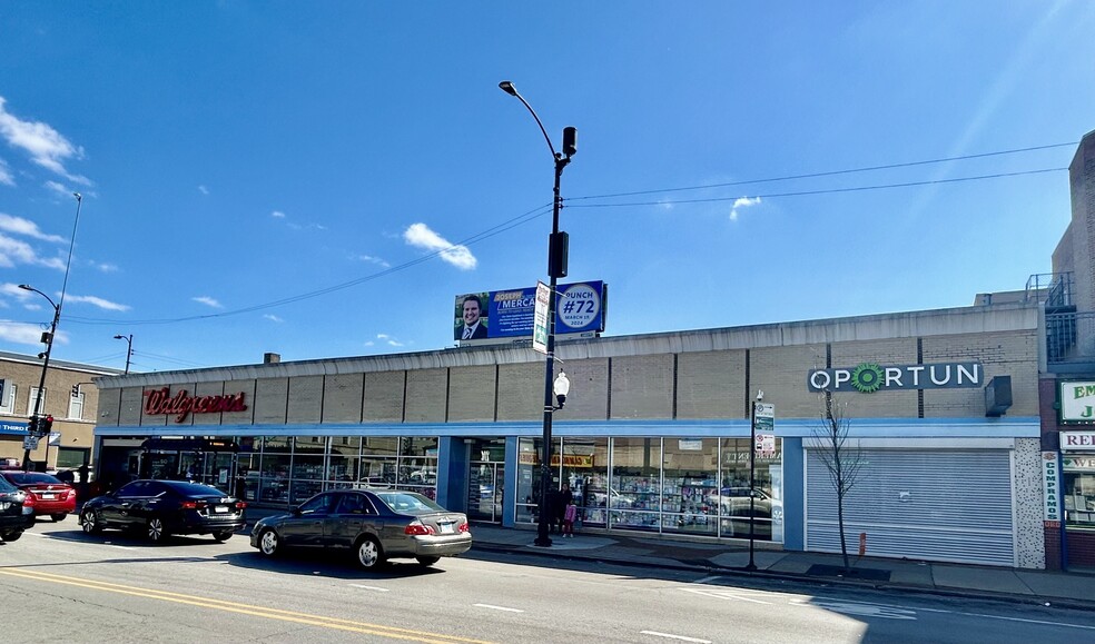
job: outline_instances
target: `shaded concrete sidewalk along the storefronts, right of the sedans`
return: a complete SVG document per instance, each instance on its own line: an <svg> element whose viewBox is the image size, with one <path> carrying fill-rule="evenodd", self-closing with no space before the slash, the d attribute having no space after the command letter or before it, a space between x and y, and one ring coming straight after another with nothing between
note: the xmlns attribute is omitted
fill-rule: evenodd
<svg viewBox="0 0 1095 644"><path fill-rule="evenodd" d="M484 524L473 524L472 536L472 549L480 552L520 552L556 558L696 569L712 575L848 584L1095 611L1095 574L1091 572L1062 573L851 556L852 571L848 575L842 574L839 554L761 549L757 545L753 548L757 569L746 571L748 545L579 534L573 538L551 535L552 545L544 548L533 545L535 531Z"/></svg>

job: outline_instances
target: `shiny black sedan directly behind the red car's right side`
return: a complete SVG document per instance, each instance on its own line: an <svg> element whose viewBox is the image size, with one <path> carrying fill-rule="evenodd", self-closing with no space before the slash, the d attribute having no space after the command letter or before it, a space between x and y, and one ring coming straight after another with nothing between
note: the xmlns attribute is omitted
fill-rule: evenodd
<svg viewBox="0 0 1095 644"><path fill-rule="evenodd" d="M142 479L83 504L80 525L88 534L108 527L140 531L154 543L172 534L211 534L226 541L244 527L245 507L246 503L208 485Z"/></svg>

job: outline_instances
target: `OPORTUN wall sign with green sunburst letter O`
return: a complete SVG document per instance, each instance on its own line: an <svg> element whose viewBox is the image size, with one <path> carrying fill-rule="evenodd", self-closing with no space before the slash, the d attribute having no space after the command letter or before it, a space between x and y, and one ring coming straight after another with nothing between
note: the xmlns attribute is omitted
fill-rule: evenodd
<svg viewBox="0 0 1095 644"><path fill-rule="evenodd" d="M840 369L813 369L806 384L811 392L859 392L874 394L894 389L958 389L983 387L985 369L980 363L881 366L860 363Z"/></svg>

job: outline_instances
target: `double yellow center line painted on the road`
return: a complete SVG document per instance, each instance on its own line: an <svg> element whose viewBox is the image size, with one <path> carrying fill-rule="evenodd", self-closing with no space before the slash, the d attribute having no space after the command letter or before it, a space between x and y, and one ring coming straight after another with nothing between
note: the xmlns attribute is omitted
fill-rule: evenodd
<svg viewBox="0 0 1095 644"><path fill-rule="evenodd" d="M239 613L243 615L250 615L254 617L265 617L267 620L279 620L283 622L293 622L296 624L306 624L309 626L322 626L324 628L349 631L352 633L379 635L383 637L391 637L393 640L408 640L412 642L427 642L432 644L445 644L452 642L462 642L466 644L490 644L489 642L484 642L482 640L471 640L467 637L457 637L455 635L443 635L441 633L412 631L408 628L397 628L394 626L384 626L382 624L369 624L367 622L356 622L353 620L342 620L338 617L325 617L323 615L298 613L295 611L284 611L280 608L267 608L265 606L255 606L250 604L241 604L238 602L226 602L223 600L215 600L213 597L186 595L182 593L170 593L167 591L157 591L155 588L127 586L122 584L112 584L109 582L83 579L80 577L68 577L68 576L56 575L52 573L46 573L41 571L0 568L0 574L9 575L12 577L33 579L37 582L65 584L69 586L79 586L83 588L91 588L91 589L103 591L108 593L117 593L121 595L134 595L137 597L146 597L149 600L159 600L162 602L174 602L176 604L187 604L190 606L214 608L217 611Z"/></svg>

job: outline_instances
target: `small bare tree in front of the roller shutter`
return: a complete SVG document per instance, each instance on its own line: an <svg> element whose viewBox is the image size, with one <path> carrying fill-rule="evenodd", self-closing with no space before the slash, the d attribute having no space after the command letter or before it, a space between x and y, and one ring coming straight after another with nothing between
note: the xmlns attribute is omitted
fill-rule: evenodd
<svg viewBox="0 0 1095 644"><path fill-rule="evenodd" d="M837 526L840 531L840 554L844 556L845 569L848 564L848 538L845 535L844 502L848 492L859 480L859 475L866 464L864 450L856 444L848 445L848 428L850 418L847 405L832 399L832 392L825 389L818 396L821 403L821 419L813 428L813 447L818 458L829 473L829 483L837 493Z"/></svg>

